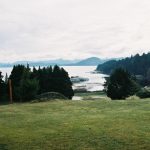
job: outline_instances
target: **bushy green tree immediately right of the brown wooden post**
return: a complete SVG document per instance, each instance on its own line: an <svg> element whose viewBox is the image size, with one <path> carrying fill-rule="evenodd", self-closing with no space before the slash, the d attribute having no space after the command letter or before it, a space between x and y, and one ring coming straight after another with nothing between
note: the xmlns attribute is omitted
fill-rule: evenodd
<svg viewBox="0 0 150 150"><path fill-rule="evenodd" d="M13 67L10 75L12 80L13 100L16 102L29 101L37 95L38 81L31 78L29 65Z"/></svg>

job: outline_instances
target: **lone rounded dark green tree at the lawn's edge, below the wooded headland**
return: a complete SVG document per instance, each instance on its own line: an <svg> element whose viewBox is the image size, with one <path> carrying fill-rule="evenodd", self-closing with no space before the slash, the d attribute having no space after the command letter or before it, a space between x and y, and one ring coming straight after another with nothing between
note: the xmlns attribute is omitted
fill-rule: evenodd
<svg viewBox="0 0 150 150"><path fill-rule="evenodd" d="M126 99L138 91L138 85L128 71L118 68L107 78L105 91L113 100Z"/></svg>

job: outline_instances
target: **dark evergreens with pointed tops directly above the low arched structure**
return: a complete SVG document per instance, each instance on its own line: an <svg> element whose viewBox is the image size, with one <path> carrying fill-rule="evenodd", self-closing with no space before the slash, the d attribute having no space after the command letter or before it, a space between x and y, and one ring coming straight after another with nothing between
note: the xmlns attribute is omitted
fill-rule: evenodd
<svg viewBox="0 0 150 150"><path fill-rule="evenodd" d="M57 65L53 68L51 66L42 69L39 67L38 70L33 68L31 77L36 78L39 81L38 94L58 92L69 99L74 95L72 82L68 73Z"/></svg>

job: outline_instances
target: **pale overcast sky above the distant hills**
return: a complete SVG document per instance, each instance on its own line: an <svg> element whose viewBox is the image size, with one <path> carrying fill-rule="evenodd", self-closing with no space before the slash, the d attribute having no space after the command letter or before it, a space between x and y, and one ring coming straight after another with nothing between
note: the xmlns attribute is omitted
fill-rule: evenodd
<svg viewBox="0 0 150 150"><path fill-rule="evenodd" d="M0 0L0 62L150 50L150 0Z"/></svg>

